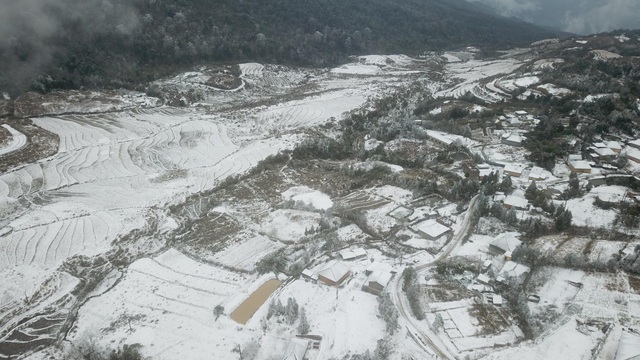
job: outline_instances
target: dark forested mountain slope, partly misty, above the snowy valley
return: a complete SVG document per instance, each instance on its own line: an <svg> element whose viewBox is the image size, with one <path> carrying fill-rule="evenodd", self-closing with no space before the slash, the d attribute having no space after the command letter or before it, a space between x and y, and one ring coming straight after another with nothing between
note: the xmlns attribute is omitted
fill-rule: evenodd
<svg viewBox="0 0 640 360"><path fill-rule="evenodd" d="M459 0L23 0L3 13L0 91L12 94L131 88L205 62L328 66L558 35Z"/></svg>

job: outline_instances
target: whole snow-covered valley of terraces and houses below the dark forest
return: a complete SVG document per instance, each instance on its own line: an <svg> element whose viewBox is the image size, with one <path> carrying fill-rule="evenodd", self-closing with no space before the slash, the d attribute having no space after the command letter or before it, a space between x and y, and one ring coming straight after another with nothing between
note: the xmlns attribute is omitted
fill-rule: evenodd
<svg viewBox="0 0 640 360"><path fill-rule="evenodd" d="M632 45L18 98L0 156L32 151L27 118L59 147L0 176L0 359L637 357L640 93L573 67L636 81Z"/></svg>

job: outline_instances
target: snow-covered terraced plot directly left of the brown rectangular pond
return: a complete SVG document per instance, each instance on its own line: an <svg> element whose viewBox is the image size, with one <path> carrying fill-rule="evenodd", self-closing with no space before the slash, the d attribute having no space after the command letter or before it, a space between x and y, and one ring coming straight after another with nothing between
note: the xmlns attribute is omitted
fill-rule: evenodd
<svg viewBox="0 0 640 360"><path fill-rule="evenodd" d="M175 250L134 262L111 291L80 309L72 340L92 331L99 342L140 343L146 356L176 359L236 359L236 342L248 342L252 331L229 336L232 320L216 321L213 308L225 308L248 295L253 278L191 260ZM131 330L130 327L131 326ZM111 345L109 345L111 347Z"/></svg>

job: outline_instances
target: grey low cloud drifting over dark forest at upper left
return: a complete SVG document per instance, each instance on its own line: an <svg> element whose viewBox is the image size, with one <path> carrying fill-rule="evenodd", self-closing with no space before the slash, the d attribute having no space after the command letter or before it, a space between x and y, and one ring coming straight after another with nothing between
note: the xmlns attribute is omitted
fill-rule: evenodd
<svg viewBox="0 0 640 360"><path fill-rule="evenodd" d="M11 71L0 71L0 84L26 81L67 51L65 34L75 41L105 32L131 32L138 15L128 1L4 1L0 11L0 58ZM115 1L118 1L115 3Z"/></svg>

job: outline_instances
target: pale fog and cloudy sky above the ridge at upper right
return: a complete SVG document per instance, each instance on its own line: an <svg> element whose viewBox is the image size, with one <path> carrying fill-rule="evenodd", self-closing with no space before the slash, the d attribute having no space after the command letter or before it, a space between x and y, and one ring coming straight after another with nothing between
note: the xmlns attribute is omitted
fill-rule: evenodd
<svg viewBox="0 0 640 360"><path fill-rule="evenodd" d="M468 0L499 14L560 30L590 34L640 28L638 0Z"/></svg>

